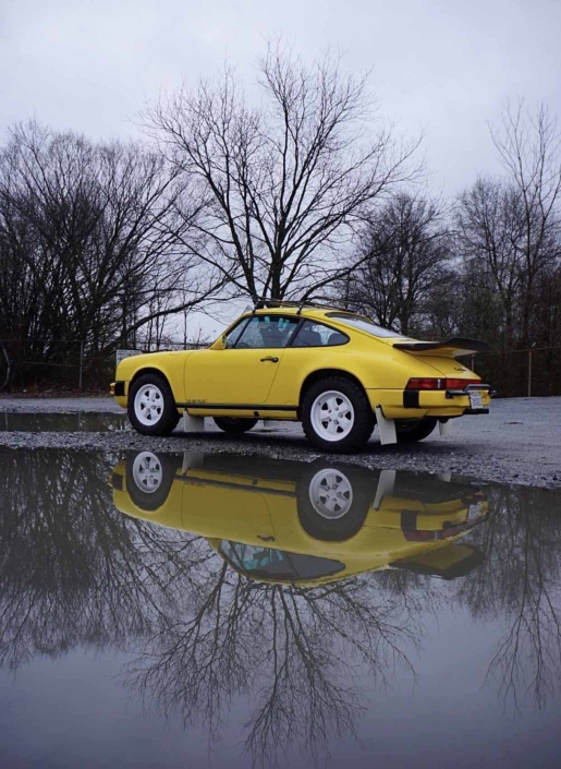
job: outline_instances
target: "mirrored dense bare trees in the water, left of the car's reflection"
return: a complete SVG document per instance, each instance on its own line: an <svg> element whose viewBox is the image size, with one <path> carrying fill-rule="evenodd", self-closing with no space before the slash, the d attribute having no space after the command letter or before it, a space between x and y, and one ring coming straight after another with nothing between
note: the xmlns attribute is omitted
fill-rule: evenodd
<svg viewBox="0 0 561 769"><path fill-rule="evenodd" d="M188 588L197 543L119 515L110 457L4 450L0 464L3 665L78 645L126 648L181 611L170 586L181 573Z"/></svg>

